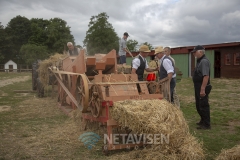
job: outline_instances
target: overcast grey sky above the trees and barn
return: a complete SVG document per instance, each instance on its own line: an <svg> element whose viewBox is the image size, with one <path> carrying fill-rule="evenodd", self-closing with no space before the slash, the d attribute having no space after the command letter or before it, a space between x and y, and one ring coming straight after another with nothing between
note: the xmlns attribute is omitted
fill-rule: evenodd
<svg viewBox="0 0 240 160"><path fill-rule="evenodd" d="M189 46L240 41L240 0L0 0L0 22L17 15L59 17L83 45L90 17L108 14L119 37L153 46Z"/></svg>

